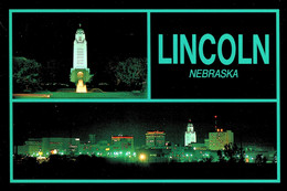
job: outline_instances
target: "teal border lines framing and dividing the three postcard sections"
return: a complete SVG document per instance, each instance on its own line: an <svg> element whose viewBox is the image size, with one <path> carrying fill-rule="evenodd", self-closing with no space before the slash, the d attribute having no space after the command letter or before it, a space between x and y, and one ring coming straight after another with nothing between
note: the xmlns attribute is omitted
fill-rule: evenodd
<svg viewBox="0 0 287 191"><path fill-rule="evenodd" d="M12 13L147 13L148 97L146 99L13 99L12 97ZM151 99L151 13L275 13L276 14L276 98ZM11 183L279 183L280 182L280 41L279 9L10 9L9 10L9 132ZM277 179L14 179L13 103L274 103L277 114Z"/></svg>

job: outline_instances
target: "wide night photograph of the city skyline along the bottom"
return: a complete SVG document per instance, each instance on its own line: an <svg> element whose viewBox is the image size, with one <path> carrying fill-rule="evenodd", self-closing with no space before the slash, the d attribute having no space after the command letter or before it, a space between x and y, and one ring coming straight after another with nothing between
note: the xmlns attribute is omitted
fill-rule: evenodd
<svg viewBox="0 0 287 191"><path fill-rule="evenodd" d="M275 104L19 103L13 113L17 179L277 174Z"/></svg>

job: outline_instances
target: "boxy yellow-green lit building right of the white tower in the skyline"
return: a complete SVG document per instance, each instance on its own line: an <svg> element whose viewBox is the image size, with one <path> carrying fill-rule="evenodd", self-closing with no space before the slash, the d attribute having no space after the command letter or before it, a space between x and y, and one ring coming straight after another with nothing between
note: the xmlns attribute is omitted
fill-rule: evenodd
<svg viewBox="0 0 287 191"><path fill-rule="evenodd" d="M209 132L206 144L210 150L222 150L226 144L234 144L234 135L231 130L217 128L215 132Z"/></svg>

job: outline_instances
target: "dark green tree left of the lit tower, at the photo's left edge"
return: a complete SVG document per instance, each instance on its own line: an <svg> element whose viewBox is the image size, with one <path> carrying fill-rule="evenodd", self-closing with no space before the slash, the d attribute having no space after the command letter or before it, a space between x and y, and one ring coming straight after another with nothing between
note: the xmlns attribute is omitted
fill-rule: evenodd
<svg viewBox="0 0 287 191"><path fill-rule="evenodd" d="M13 57L14 91L34 91L40 88L41 64L25 57Z"/></svg>

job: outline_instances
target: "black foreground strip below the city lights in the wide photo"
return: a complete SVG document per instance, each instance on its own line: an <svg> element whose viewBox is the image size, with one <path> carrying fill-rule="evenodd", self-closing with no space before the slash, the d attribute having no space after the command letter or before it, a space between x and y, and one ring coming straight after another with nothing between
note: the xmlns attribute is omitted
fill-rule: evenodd
<svg viewBox="0 0 287 191"><path fill-rule="evenodd" d="M14 179L276 179L276 165L121 163L103 158L14 162Z"/></svg>

